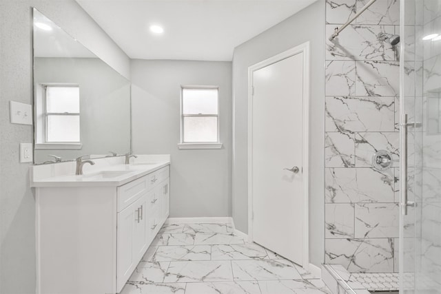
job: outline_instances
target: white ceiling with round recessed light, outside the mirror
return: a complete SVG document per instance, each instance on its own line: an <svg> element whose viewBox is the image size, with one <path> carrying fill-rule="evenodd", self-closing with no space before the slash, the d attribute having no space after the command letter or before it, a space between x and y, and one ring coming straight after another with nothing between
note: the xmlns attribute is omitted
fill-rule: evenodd
<svg viewBox="0 0 441 294"><path fill-rule="evenodd" d="M131 59L231 61L236 46L316 0L76 1Z"/></svg>

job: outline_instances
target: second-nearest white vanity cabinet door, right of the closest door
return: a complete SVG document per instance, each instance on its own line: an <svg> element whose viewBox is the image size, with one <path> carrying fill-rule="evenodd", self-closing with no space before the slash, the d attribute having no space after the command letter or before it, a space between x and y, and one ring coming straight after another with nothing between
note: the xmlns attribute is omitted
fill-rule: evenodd
<svg viewBox="0 0 441 294"><path fill-rule="evenodd" d="M138 264L147 250L147 193L134 202L134 233L133 233L133 251L134 262Z"/></svg>

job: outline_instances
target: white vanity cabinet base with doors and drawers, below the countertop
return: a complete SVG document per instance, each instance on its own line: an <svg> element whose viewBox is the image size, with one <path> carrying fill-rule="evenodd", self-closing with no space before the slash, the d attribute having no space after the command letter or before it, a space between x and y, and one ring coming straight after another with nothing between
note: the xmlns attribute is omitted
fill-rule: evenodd
<svg viewBox="0 0 441 294"><path fill-rule="evenodd" d="M169 215L169 174L37 187L37 293L119 293Z"/></svg>

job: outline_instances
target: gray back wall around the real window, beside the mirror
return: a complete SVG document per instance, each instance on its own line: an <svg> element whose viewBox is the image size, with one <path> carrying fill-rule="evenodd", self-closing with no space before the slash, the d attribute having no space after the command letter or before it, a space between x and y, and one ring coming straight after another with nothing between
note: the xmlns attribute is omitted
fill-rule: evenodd
<svg viewBox="0 0 441 294"><path fill-rule="evenodd" d="M231 216L232 63L133 60L132 141L171 154L170 216ZM223 149L180 150L181 85L218 85Z"/></svg>

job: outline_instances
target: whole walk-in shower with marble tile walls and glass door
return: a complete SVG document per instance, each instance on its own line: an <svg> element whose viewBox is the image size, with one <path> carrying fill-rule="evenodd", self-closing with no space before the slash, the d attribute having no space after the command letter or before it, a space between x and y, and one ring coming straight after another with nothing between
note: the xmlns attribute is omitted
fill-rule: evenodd
<svg viewBox="0 0 441 294"><path fill-rule="evenodd" d="M325 269L336 293L441 293L441 0L326 14Z"/></svg>

